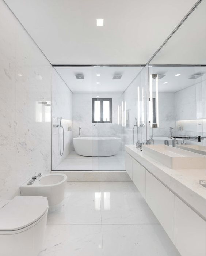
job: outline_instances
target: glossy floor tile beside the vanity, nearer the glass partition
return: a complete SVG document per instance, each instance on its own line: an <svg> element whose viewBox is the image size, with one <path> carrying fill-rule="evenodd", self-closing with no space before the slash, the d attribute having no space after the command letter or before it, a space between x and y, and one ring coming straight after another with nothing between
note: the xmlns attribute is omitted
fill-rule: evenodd
<svg viewBox="0 0 206 256"><path fill-rule="evenodd" d="M158 224L133 182L100 182L102 224Z"/></svg>

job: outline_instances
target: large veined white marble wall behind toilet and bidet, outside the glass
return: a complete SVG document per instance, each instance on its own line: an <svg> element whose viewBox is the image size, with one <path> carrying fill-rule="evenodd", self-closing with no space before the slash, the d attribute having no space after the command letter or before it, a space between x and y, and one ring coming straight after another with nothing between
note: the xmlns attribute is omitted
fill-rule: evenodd
<svg viewBox="0 0 206 256"><path fill-rule="evenodd" d="M12 199L51 170L51 65L3 0L0 35L0 199Z"/></svg>

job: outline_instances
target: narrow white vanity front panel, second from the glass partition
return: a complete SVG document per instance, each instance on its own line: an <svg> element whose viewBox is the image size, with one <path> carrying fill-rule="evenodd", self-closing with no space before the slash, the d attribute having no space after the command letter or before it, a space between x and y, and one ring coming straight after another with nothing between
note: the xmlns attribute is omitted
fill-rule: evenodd
<svg viewBox="0 0 206 256"><path fill-rule="evenodd" d="M146 200L145 172L145 168L132 158L132 180Z"/></svg>

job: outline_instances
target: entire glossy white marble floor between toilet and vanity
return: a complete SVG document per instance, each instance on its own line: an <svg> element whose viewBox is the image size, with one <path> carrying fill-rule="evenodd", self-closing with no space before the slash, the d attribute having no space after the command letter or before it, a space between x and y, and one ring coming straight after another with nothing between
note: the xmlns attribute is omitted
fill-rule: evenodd
<svg viewBox="0 0 206 256"><path fill-rule="evenodd" d="M38 256L180 256L133 182L67 182Z"/></svg>

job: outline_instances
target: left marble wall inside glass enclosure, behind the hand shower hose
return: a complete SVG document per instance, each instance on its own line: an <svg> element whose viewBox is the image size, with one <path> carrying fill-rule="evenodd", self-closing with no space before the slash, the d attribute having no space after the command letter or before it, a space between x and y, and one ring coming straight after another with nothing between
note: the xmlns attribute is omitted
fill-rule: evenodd
<svg viewBox="0 0 206 256"><path fill-rule="evenodd" d="M64 153L60 155L60 124L64 128ZM52 67L52 169L54 170L72 150L72 91ZM63 149L63 129L61 128L61 154Z"/></svg>

